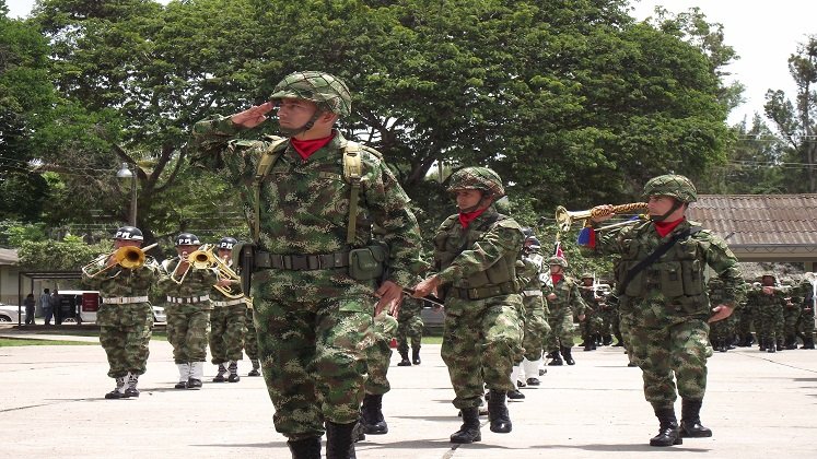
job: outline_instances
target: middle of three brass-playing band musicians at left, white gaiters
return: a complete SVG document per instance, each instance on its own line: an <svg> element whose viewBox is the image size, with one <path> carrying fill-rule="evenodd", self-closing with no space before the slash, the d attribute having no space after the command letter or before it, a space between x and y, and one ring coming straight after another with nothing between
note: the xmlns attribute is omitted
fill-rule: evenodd
<svg viewBox="0 0 817 459"><path fill-rule="evenodd" d="M207 329L210 321L210 290L218 281L209 263L191 263L190 256L201 240L191 233L176 236L178 259L162 262L159 286L167 296L167 341L178 367L176 389L200 389L207 357Z"/></svg>

